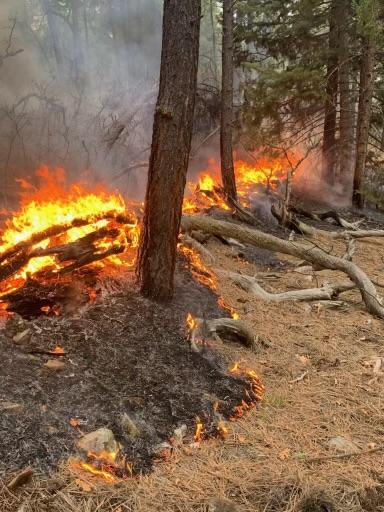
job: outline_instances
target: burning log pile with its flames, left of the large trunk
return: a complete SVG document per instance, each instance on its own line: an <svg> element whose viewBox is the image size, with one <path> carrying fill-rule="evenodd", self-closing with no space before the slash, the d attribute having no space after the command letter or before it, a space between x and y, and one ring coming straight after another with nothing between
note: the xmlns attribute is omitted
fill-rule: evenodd
<svg viewBox="0 0 384 512"><path fill-rule="evenodd" d="M119 194L81 183L67 187L60 168L42 166L36 175L37 187L20 180L21 208L1 236L3 301L29 280L45 282L85 265L133 266L138 223ZM50 305L41 309L55 313Z"/></svg>

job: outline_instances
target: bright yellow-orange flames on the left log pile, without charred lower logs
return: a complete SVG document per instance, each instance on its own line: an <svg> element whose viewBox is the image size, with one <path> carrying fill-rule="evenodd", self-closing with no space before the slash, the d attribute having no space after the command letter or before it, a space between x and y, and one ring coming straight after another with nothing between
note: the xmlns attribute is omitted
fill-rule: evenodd
<svg viewBox="0 0 384 512"><path fill-rule="evenodd" d="M64 264L54 255L40 256L39 251L49 252L54 246L76 242L101 228L106 229L106 236L100 235L93 242L96 253L111 250L111 253L124 254L112 254L106 263L94 265L134 264L139 240L138 222L133 213L127 213L127 205L120 194L109 193L101 186L89 190L81 183L67 187L65 172L61 168L50 170L47 166L41 166L36 176L37 187L26 180L18 180L22 189L21 208L6 221L0 240L3 265L12 266L12 248L15 246L24 249L27 254L31 254L28 252L31 251L35 256L27 258L22 268L1 283L0 295L22 287L28 278L39 273L49 271L55 274L68 265L68 261ZM119 219L123 217L129 219L127 224L120 223ZM56 231L55 226L58 227ZM108 230L115 230L113 232L117 236L111 240ZM129 254L132 249L133 256ZM42 311L51 312L50 306L43 306Z"/></svg>

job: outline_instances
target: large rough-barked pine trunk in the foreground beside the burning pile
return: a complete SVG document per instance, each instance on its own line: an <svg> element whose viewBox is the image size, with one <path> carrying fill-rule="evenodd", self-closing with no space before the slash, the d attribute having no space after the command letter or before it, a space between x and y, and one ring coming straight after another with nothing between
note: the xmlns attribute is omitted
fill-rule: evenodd
<svg viewBox="0 0 384 512"><path fill-rule="evenodd" d="M137 266L141 292L159 301L173 294L197 90L200 15L200 0L164 1L160 88Z"/></svg>

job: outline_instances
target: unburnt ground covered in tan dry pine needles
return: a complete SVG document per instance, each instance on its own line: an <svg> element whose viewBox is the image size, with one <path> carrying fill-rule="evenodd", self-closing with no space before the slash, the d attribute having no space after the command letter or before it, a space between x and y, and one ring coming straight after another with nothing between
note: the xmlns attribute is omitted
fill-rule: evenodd
<svg viewBox="0 0 384 512"><path fill-rule="evenodd" d="M317 242L337 254L345 250L337 241ZM303 275L288 256L257 264L217 241L208 247L220 266L264 275L269 291L345 280L328 271ZM359 241L354 261L379 278L383 251L384 239ZM231 423L225 441L185 445L152 474L118 486L81 489L63 466L15 493L0 487L1 512L384 510L384 379L373 371L384 357L382 320L367 313L356 291L341 296L341 309L327 309L267 304L226 279L218 288L264 341L253 351L220 341L215 349L259 373L263 404ZM356 455L335 458L330 441L337 437L353 443Z"/></svg>

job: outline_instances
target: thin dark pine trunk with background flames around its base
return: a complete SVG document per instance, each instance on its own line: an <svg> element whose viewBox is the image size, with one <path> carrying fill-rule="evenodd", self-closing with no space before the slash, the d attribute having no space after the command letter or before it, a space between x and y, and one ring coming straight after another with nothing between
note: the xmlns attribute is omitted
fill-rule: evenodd
<svg viewBox="0 0 384 512"><path fill-rule="evenodd" d="M237 200L232 150L233 124L233 0L223 0L223 69L221 91L221 177L227 197Z"/></svg>

